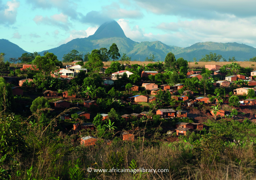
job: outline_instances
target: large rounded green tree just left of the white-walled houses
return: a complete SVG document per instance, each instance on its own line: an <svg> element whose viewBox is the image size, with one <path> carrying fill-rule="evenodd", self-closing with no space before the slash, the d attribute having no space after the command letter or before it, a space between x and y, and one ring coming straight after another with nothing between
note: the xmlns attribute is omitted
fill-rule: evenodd
<svg viewBox="0 0 256 180"><path fill-rule="evenodd" d="M36 56L34 64L36 68L41 71L44 76L50 76L52 72L58 70L57 66L60 66L60 61L53 53L47 53L45 56Z"/></svg>

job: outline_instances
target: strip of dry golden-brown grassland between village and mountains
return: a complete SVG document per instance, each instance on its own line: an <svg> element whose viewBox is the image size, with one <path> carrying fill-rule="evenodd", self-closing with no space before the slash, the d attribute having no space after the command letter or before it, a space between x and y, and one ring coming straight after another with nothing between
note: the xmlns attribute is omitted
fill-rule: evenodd
<svg viewBox="0 0 256 180"><path fill-rule="evenodd" d="M107 62L104 62L104 66L105 67L108 67L110 66L112 61L107 61ZM120 63L122 63L122 61L119 61ZM151 62L151 61L130 61L130 65L132 64L139 64L139 65L142 65L144 66L144 64L148 65L149 63L155 63L155 62ZM204 65L207 65L207 64L217 64L217 65L220 65L220 66L223 66L223 65L227 65L227 64L231 64L231 62L197 62L198 64L195 64L195 62L190 62L190 69L202 69L204 68ZM253 68L253 69L256 69L256 67L254 65L256 65L256 62L249 62L249 61L237 61L236 63L240 64L241 67L245 68L245 67L248 67L249 68ZM17 64L11 64L10 66L11 67L16 67ZM22 63L19 63L20 66L22 66L23 64ZM66 66L66 65L74 65L73 63L71 62L63 62L63 66ZM188 63L189 65L189 63Z"/></svg>

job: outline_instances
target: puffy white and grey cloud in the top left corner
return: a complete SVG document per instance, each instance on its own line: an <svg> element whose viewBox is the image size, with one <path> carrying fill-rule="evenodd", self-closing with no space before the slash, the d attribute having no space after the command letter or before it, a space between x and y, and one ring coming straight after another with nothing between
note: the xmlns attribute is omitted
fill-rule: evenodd
<svg viewBox="0 0 256 180"><path fill-rule="evenodd" d="M7 1L6 5L3 5L0 1L0 24L14 24L17 17L17 8L20 7L19 1Z"/></svg>

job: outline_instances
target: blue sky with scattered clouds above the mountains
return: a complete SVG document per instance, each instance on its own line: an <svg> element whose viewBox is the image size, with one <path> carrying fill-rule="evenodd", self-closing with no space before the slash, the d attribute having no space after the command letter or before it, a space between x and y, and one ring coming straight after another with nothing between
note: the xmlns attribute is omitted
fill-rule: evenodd
<svg viewBox="0 0 256 180"><path fill-rule="evenodd" d="M0 0L0 39L40 52L92 35L116 20L134 41L188 47L237 42L256 47L252 0Z"/></svg>

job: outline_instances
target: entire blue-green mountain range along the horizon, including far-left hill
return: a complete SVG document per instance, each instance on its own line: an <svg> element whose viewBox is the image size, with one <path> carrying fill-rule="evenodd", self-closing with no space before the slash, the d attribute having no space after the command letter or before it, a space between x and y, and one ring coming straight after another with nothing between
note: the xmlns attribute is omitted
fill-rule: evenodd
<svg viewBox="0 0 256 180"><path fill-rule="evenodd" d="M160 41L154 42L135 42L130 38L127 38L123 29L116 21L110 21L102 24L97 31L87 38L77 38L69 41L66 44L62 44L59 47L44 50L49 51L58 56L61 60L64 54L67 54L73 49L86 54L93 49L100 49L101 47L109 47L116 43L119 53L132 56L132 60L144 61L146 57L149 58L150 54L154 54L156 60L164 61L167 53L172 52L175 54L176 59L183 57L188 61L193 61L196 57L197 60L201 59L203 55L209 53L221 54L223 58L228 60L235 56L237 61L249 60L253 56L256 56L256 48L247 46L245 44L234 43L217 43L217 42L202 42L196 43L190 47L177 47L169 46ZM43 54L44 51L38 52ZM8 40L0 40L0 52L6 53L5 58L19 57L23 53L26 53L19 46L9 42Z"/></svg>

